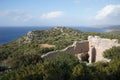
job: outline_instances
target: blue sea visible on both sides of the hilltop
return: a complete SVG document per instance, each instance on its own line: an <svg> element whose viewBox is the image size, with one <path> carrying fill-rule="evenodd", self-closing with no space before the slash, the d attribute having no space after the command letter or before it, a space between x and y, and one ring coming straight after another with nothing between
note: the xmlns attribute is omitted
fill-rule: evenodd
<svg viewBox="0 0 120 80"><path fill-rule="evenodd" d="M11 41L16 40L17 38L20 38L21 36L27 34L27 32L32 31L32 30L47 30L49 28L53 28L50 26L40 26L40 27L36 27L36 26L32 26L32 27L26 27L26 26L22 26L22 27L0 27L0 44L5 44ZM101 33L105 33L106 29L104 28L91 28L91 27L84 27L84 26L74 26L74 27L70 27L73 29L77 29L77 30L81 30L81 31L85 31L85 32L101 32Z"/></svg>

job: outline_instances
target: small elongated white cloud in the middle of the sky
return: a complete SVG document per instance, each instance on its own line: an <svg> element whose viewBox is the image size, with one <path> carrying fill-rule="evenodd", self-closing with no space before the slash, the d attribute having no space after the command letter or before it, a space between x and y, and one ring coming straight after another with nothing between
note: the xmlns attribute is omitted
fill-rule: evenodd
<svg viewBox="0 0 120 80"><path fill-rule="evenodd" d="M59 18L63 16L63 11L54 11L54 12L49 12L46 14L42 14L41 18L42 19L54 19L54 18Z"/></svg>

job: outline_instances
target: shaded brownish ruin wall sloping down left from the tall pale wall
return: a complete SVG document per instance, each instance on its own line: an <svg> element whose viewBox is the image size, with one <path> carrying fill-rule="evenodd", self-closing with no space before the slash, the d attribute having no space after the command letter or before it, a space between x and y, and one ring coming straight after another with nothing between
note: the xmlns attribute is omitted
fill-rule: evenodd
<svg viewBox="0 0 120 80"><path fill-rule="evenodd" d="M59 52L67 52L70 54L75 54L75 56L79 59L81 59L81 54L82 56L86 55L89 51L89 42L88 41L75 41L73 45L66 47L63 50L57 50L57 51L51 51L46 53L45 55L42 55L42 58L48 58L52 57Z"/></svg>

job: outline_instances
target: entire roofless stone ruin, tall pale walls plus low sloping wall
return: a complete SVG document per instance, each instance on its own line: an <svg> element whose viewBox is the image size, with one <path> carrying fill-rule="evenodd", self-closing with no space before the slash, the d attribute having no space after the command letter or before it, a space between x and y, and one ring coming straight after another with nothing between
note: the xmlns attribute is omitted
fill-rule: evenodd
<svg viewBox="0 0 120 80"><path fill-rule="evenodd" d="M100 38L99 36L89 36L86 41L76 41L73 45L68 46L60 52L66 51L73 53L81 61L87 61L89 63L97 61L110 61L103 57L103 52L113 46L120 46L117 39ZM55 55L58 51L48 52L41 57L46 58Z"/></svg>

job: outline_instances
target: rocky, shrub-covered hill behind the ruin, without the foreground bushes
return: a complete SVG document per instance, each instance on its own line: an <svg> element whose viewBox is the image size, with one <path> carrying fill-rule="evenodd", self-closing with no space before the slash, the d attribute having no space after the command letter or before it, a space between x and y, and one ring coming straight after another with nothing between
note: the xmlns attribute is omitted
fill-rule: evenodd
<svg viewBox="0 0 120 80"><path fill-rule="evenodd" d="M37 53L42 55L49 51L60 50L73 44L74 41L87 40L89 35L119 39L118 36L113 34L82 32L80 30L67 27L55 27L48 30L34 30L13 42L0 45L0 61L18 54ZM42 48L40 47L41 44L54 45L54 47Z"/></svg>

